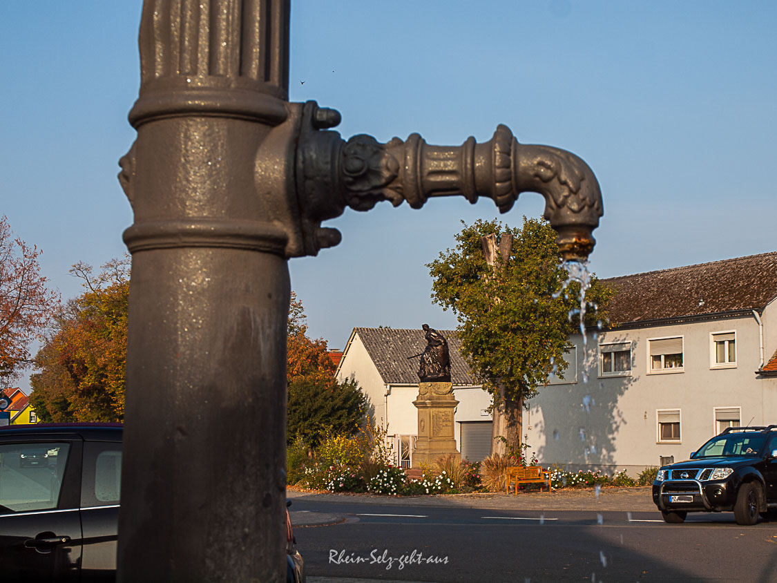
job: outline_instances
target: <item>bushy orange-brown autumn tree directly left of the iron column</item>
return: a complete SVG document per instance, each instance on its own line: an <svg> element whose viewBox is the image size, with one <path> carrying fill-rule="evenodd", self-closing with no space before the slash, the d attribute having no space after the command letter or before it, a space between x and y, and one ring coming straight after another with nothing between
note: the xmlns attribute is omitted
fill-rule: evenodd
<svg viewBox="0 0 777 583"><path fill-rule="evenodd" d="M30 403L41 421L122 421L129 259L110 261L96 275L79 263L71 274L85 291L54 319L35 359Z"/></svg>

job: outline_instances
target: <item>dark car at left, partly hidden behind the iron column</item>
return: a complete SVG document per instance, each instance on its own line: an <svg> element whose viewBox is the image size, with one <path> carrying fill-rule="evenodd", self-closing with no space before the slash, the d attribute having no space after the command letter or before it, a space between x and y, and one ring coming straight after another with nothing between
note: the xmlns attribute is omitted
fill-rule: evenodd
<svg viewBox="0 0 777 583"><path fill-rule="evenodd" d="M0 428L0 581L116 579L121 436L121 424ZM298 583L286 517L287 578Z"/></svg>

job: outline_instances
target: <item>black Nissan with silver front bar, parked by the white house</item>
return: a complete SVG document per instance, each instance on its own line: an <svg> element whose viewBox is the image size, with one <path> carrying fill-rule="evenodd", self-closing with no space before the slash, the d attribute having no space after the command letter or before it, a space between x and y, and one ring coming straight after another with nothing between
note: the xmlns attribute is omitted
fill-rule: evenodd
<svg viewBox="0 0 777 583"><path fill-rule="evenodd" d="M777 511L777 425L726 428L685 462L658 470L653 502L666 522L688 512L733 511L737 524Z"/></svg>

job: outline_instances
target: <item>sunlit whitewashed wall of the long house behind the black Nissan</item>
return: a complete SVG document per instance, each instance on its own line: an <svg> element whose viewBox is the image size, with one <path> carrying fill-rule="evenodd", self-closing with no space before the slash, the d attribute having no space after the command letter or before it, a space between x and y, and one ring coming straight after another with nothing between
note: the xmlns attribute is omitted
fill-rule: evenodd
<svg viewBox="0 0 777 583"><path fill-rule="evenodd" d="M772 314L772 312L775 312ZM777 309L765 311L765 328L775 328ZM772 326L769 326L772 324ZM736 330L736 368L710 367L710 333ZM648 373L648 339L684 338L684 372ZM741 407L740 423L777 423L777 379L757 379L758 323L754 317L612 330L597 340L588 336L585 358L580 335L577 346L577 382L549 385L539 390L524 413L524 434L530 452L540 463L572 469L626 468L634 475L657 466L660 456L687 459L716 435L714 408ZM632 342L630 375L599 375L598 344ZM766 344L773 354L777 338ZM771 352L769 352L771 350ZM587 371L588 382L584 381ZM571 375L567 375L572 378ZM678 409L678 443L658 443L657 410Z"/></svg>

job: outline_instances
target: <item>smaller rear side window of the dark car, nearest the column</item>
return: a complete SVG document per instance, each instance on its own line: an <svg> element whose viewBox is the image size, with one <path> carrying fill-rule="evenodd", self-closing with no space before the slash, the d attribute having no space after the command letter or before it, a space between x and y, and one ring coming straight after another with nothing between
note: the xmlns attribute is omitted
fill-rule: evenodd
<svg viewBox="0 0 777 583"><path fill-rule="evenodd" d="M86 442L81 506L118 504L121 493L121 444Z"/></svg>

